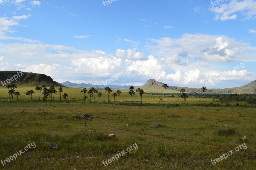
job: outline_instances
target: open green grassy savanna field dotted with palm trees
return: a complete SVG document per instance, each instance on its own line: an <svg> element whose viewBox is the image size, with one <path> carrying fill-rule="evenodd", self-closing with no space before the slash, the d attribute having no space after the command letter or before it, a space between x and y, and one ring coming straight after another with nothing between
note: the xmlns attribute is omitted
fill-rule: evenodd
<svg viewBox="0 0 256 170"><path fill-rule="evenodd" d="M185 105L179 97L127 92L105 103L105 91L100 99L83 103L79 88L63 88L66 101L59 92L55 101L32 101L25 92L33 87L18 87L21 93L9 101L7 89L0 88L0 160L34 142L35 147L10 160L1 169L255 169L256 115L255 106L244 102L219 103L205 98L205 103L219 107L197 106L203 98L188 97ZM113 90L114 92L114 90ZM88 96L88 94L86 94ZM108 96L107 96L108 97ZM141 100L141 98L140 98ZM87 120L80 114L95 116ZM217 120L221 120L218 123ZM226 128L227 126L227 128ZM115 134L116 137L109 137ZM247 141L242 137L246 136ZM57 149L50 148L58 145ZM108 160L130 146L135 146L118 160ZM241 146L244 144L243 146ZM246 147L245 147L246 145ZM211 163L227 151L239 151L226 159ZM133 147L134 148L134 147ZM229 152L230 153L230 152ZM108 165L102 163L107 161Z"/></svg>

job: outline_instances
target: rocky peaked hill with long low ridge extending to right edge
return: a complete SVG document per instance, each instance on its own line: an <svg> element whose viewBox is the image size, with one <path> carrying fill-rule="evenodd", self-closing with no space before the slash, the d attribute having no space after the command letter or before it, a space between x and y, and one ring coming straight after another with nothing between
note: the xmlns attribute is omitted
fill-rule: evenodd
<svg viewBox="0 0 256 170"><path fill-rule="evenodd" d="M155 79L149 79L143 86L140 88L148 91L148 92L159 92L163 93L162 85L164 83L158 82ZM188 93L202 93L201 88L189 88L189 87L178 87L178 86L168 86L166 88L166 93L179 93L180 89L184 88ZM231 94L231 93L256 93L256 80L252 81L249 84L246 84L241 87L234 87L234 88L226 88L226 89L208 89L207 93L217 93L217 94Z"/></svg>

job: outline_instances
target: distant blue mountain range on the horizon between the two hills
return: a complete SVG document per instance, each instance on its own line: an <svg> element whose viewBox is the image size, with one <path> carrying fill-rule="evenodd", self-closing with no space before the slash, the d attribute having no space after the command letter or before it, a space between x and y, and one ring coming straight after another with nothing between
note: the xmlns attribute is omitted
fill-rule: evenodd
<svg viewBox="0 0 256 170"><path fill-rule="evenodd" d="M110 84L108 84L108 85L94 85L94 84L86 84L86 83L71 83L71 82L69 82L69 81L66 81L66 82L64 82L64 83L60 83L60 84L62 84L63 86L69 86L69 87L98 87L98 88L105 88L105 87L110 87L110 88L113 88L113 89L129 89L130 88L130 86L117 86L117 85L110 85ZM134 88L138 88L138 87L140 87L140 86L134 86Z"/></svg>

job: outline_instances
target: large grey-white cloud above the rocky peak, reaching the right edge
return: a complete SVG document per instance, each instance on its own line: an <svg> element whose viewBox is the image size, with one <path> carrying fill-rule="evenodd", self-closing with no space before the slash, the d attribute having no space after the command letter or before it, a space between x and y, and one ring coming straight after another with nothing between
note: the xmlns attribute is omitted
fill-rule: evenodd
<svg viewBox="0 0 256 170"><path fill-rule="evenodd" d="M158 57L174 58L175 61L188 63L193 59L212 62L232 62L235 60L255 61L256 47L238 42L224 35L183 34L180 38L164 37L147 39L148 51ZM154 45L155 44L155 45ZM185 51L185 52L183 52ZM183 58L186 53L187 59ZM254 57L253 57L254 56ZM176 63L177 63L176 62Z"/></svg>

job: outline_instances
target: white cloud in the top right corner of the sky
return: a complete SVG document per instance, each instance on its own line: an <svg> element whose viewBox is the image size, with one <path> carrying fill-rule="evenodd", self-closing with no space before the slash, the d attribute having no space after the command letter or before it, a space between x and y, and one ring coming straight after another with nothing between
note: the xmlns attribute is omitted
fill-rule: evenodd
<svg viewBox="0 0 256 170"><path fill-rule="evenodd" d="M215 13L215 20L233 20L238 18L238 12L245 16L245 19L256 19L256 2L254 0L231 0L229 4L222 4L220 7L210 8Z"/></svg>

